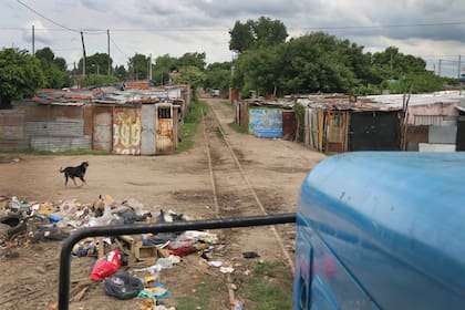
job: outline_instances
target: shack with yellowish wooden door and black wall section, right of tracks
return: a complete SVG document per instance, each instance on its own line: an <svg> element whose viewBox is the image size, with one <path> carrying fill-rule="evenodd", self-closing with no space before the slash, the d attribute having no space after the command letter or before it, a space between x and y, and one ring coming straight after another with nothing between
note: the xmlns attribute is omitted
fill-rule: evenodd
<svg viewBox="0 0 465 310"><path fill-rule="evenodd" d="M399 151L399 108L355 102L347 95L297 99L304 106L303 143L326 153Z"/></svg>

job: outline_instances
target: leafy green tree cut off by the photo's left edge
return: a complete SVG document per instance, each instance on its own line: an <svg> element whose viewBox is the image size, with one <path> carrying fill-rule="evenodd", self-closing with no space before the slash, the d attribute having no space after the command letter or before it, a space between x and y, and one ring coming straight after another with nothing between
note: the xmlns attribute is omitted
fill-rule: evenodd
<svg viewBox="0 0 465 310"><path fill-rule="evenodd" d="M24 50L0 51L0 107L10 108L12 100L31 97L45 84L40 60Z"/></svg>

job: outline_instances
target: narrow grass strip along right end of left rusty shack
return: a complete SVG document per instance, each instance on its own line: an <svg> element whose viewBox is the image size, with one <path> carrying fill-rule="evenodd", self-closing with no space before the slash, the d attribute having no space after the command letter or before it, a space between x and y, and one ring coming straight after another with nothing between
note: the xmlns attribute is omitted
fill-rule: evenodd
<svg viewBox="0 0 465 310"><path fill-rule="evenodd" d="M180 126L180 142L177 144L176 153L189 149L194 145L194 136L203 115L210 111L210 106L202 100L193 101L184 114L184 124Z"/></svg>

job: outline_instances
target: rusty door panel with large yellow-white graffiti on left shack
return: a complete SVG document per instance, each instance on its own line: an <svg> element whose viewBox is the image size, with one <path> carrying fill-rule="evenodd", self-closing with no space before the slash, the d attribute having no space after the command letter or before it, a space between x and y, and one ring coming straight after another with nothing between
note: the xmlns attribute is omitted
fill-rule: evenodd
<svg viewBox="0 0 465 310"><path fill-rule="evenodd" d="M117 154L141 154L141 110L115 108L113 112L113 151Z"/></svg>

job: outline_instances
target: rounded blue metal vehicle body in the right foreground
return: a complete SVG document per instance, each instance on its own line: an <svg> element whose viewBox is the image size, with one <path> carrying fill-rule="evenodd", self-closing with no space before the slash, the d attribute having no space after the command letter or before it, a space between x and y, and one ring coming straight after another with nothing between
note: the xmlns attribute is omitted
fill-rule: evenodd
<svg viewBox="0 0 465 310"><path fill-rule="evenodd" d="M298 202L293 309L465 309L465 154L331 156Z"/></svg>

